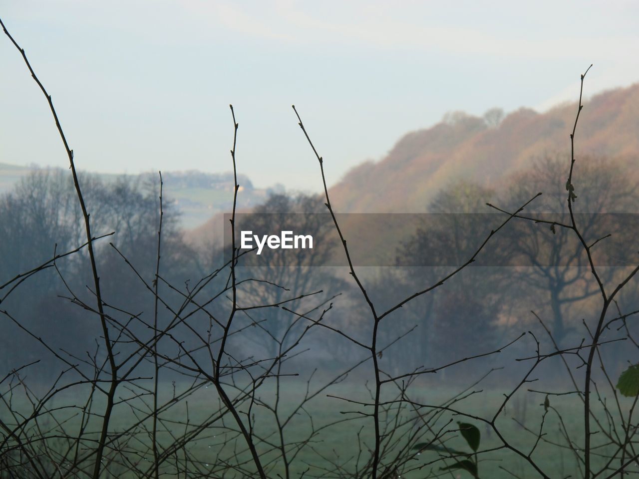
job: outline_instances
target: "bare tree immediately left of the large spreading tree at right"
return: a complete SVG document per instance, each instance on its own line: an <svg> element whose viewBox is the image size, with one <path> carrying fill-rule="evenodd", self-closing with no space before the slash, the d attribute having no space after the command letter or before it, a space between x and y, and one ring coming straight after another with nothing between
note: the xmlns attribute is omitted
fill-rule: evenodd
<svg viewBox="0 0 639 479"><path fill-rule="evenodd" d="M468 182L454 183L436 195L423 224L397 250L398 264L432 265L412 268L407 284L434 284L472 257L495 227L486 215L477 214L486 211L486 202L494 195L493 190ZM491 347L498 340L497 320L507 289L500 268L478 267L462 271L437 294L427 295L420 304L422 357L425 353L431 360L445 361Z"/></svg>

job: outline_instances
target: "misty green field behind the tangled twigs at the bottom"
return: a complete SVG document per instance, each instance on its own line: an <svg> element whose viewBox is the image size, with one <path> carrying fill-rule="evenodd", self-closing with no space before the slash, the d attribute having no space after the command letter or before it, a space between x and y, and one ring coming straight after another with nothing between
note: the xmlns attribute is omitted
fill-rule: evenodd
<svg viewBox="0 0 639 479"><path fill-rule="evenodd" d="M173 384L163 384L163 386L165 392L173 391ZM183 386L183 384L177 384L176 391L179 393L180 388ZM313 386L311 385L312 390ZM291 379L291 381L282 380L279 394L279 417L281 421L303 399L305 391L305 381L299 381L298 378ZM499 389L486 390L472 394L450 407L466 414L491 418L497 411L500 402L504 399L505 392L507 391ZM422 404L439 405L446 402L456 393L458 391L446 387L426 388L420 386L414 388L412 392L409 390L408 397L412 400L419 400ZM343 399L327 397L328 394L351 400L366 401L368 392L363 383L339 384L307 402L304 410L298 411L293 416L291 422L283 429L284 440L289 444L286 447L286 451L289 456L289 473L292 478L302 475L305 477L327 478L355 477L355 471L357 469L361 470L370 457L371 452L369 449L374 444L373 421L370 417L354 412L368 411L365 410L366 408L348 403ZM47 406L61 407L79 404L81 396L78 393L61 393ZM131 396L132 389L123 386L120 390L120 397L125 399ZM265 384L259 390L256 398L263 401L263 404L274 407L276 396L272 384ZM143 418L145 413L148 413L150 400L143 399L135 399L128 402L128 404L121 403L116 406L111 421L110 429L112 432L127 430L133 423ZM162 399L170 399L170 396ZM247 412L247 404L245 403L240 410ZM631 406L631 400L627 400L627 404L622 407L626 406ZM93 404L93 411L100 413L103 407L102 401L96 399ZM176 440L175 438L181 436L185 431L194 430L196 425L208 421L211 414L215 414L218 408L219 400L213 386L203 386L190 395L188 400L174 406L169 411L160 413L160 426L158 427L157 436L160 452L166 448L171 448ZM75 434L74 431L77 430L79 425L79 416L63 413L62 411L64 410L56 412L56 416L63 423L63 426L56 427L54 422L47 420L43 416L40 418L40 427L42 429L50 427L51 435L56 430L59 432L61 427L64 427L67 433ZM383 427L382 429L390 435L390 440L383 456L383 464L392 463L392 458L395 457L396 452L401 448L404 448L404 459L411 457L407 461L402 461L403 464L401 464L399 469L401 477L417 479L438 476L442 474L440 468L455 462L450 459L442 459L446 454L434 450L424 450L419 454L417 452L407 452L415 443L433 441L436 431L440 431L439 434L442 437L442 441L435 443L440 450L446 447L459 452L470 452L465 440L459 434L458 421L476 425L481 432L481 443L477 457L479 460L478 476L480 478L539 477L539 474L532 469L524 457L511 450L502 448L497 451L486 452L499 448L502 442L497 434L490 427L487 427L485 423L465 418L449 411L440 411L437 414L433 414L433 411L436 411L436 409L428 407L419 409L422 416L430 418L429 426L422 428L419 436L412 436L412 432L417 429L418 425L423 424L415 408L404 406L399 415L401 420L397 424L394 423L397 415L396 408L390 414L382 414L380 416L381 422L389 423L389 427ZM252 414L254 414L253 425L256 445L268 471L268 476L274 478L278 477L278 475L286 476L281 453L278 449L281 444L281 438L278 429L275 427L275 416L266 407L258 404L252 406ZM518 448L523 455L528 455L535 445L543 414L543 395L521 392L511 399L507 407L505 407L505 411L500 414L496 424L500 434L509 444ZM63 421L65 415L68 418L68 422ZM599 411L598 417L603 420L603 424L606 427L612 424L615 419L614 416L606 418L601 411ZM245 415L243 415L243 418L246 420ZM347 418L349 420L346 420ZM3 417L3 420L11 422L6 417ZM87 439L96 437L95 432L91 432L91 430L92 428L94 430L97 429L98 422L98 418L89 422L86 434ZM298 444L307 441L311 435L311 423L319 432L312 436L311 441L305 443L304 447L299 448ZM321 427L330 423L333 423L330 427L321 429ZM123 451L121 455L113 451L107 453L106 463L108 465L106 469L110 471L111 475L117 475L122 479L136 476L124 472L128 466L116 464L121 460L117 458L121 456L128 457L128 460L137 464L139 469L150 468L153 459L150 448L150 433L148 433L151 428L150 424L151 421L146 420L130 431L129 434L123 436L123 439L119 442L119 447ZM617 421L618 424L619 421ZM579 448L583 442L582 430L583 406L578 397L576 395L553 397L551 408L544 420L543 437L534 449L534 453L531 456L532 459L550 477L580 477L577 460L574 452L567 447L564 434L567 432L573 440L574 446ZM612 426L610 430L614 431ZM617 432L622 434L620 431ZM56 440L60 441L59 439ZM56 447L56 440L50 440L52 448ZM594 436L593 441L595 446L594 454L596 454L594 462L601 466L605 460L604 456L610 453L612 449L609 446L605 446L606 439L601 432ZM383 444L386 443L387 441L383 441ZM58 442L58 444L62 443ZM85 445L87 444L89 443L86 442ZM292 458L294 453L296 455ZM169 460L160 467L160 472L164 474L162 476L178 477L173 474L173 463L175 460L181 461L185 457L188 457L190 461L189 469L192 471L192 475L189 475L189 477L244 476L242 474L234 475L232 469L225 468L224 464L243 464L245 468L252 469L245 441L237 434L235 423L229 415L225 416L224 420L219 420L199 432L183 448L177 448ZM469 457L472 459L474 456L471 455ZM109 463L110 459L113 462ZM461 457L461 459L464 459L464 457ZM458 458L457 460L460 459ZM148 462L148 465L144 464L146 462ZM90 459L86 462L87 467L88 464L90 464ZM615 464L619 467L618 461ZM450 472L444 471L444 473L445 476L450 477ZM105 474L105 477L111 475ZM466 471L457 469L452 477L470 478L472 476Z"/></svg>

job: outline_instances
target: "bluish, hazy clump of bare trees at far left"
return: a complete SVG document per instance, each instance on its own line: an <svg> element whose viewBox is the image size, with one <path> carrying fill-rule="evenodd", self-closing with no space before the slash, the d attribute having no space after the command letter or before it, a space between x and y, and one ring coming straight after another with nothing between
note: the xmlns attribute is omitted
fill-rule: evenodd
<svg viewBox="0 0 639 479"><path fill-rule="evenodd" d="M91 213L93 236L115 232L95 243L95 248L102 252L99 268L103 298L117 299L120 307L131 307L137 312L150 311L151 302L144 305L139 302L143 297L139 280L128 271L125 261L109 243L118 247L148 284L153 282L159 220L157 183L145 184L141 179L127 177L107 182L86 174L80 176L80 181L86 188L85 201ZM191 255L181 241L177 219L167 201L162 225L162 273L167 280L179 284L188 274ZM61 169L36 169L0 197L0 237L0 284L48 261L54 252L64 253L85 243L82 214L70 174ZM65 349L86 348L83 342L93 337L96 321L81 308L53 299L57 295L70 297L72 293L67 287L85 300L93 295L86 287L91 284L86 248L79 254L59 259L56 268L50 267L27 278L7 301L18 316L27 318L26 326L35 331L46 330L47 337L59 341ZM0 299L4 294L6 290L0 290ZM52 325L61 323L74 324L75 327L67 328L73 334L58 337L61 328ZM9 334L6 322L1 327L1 337L10 337L13 342L27 340L22 333Z"/></svg>

